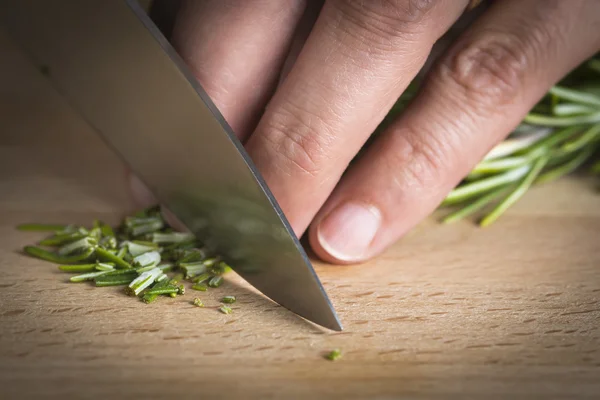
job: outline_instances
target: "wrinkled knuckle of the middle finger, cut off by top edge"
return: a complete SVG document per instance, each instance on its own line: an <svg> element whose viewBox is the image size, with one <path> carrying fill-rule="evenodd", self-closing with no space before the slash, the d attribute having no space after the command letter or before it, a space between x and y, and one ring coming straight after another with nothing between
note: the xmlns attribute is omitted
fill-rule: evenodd
<svg viewBox="0 0 600 400"><path fill-rule="evenodd" d="M419 33L439 0L333 0L334 9L350 23L350 30L375 43L406 40Z"/></svg>

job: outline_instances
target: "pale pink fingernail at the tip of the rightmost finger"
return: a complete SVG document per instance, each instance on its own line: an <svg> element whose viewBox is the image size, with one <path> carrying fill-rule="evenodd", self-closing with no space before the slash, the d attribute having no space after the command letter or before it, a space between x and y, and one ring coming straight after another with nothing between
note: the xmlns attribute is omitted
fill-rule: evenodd
<svg viewBox="0 0 600 400"><path fill-rule="evenodd" d="M381 226L381 214L373 206L344 203L325 217L317 228L317 240L329 255L341 261L365 258Z"/></svg>

